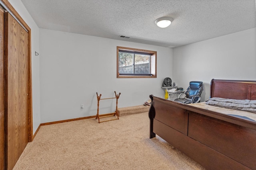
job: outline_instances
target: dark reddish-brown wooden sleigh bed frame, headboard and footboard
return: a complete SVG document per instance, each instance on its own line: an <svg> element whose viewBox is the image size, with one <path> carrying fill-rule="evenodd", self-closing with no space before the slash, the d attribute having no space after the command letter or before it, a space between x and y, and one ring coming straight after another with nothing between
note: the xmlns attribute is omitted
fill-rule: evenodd
<svg viewBox="0 0 256 170"><path fill-rule="evenodd" d="M214 80L210 98L256 100L256 81ZM256 169L256 122L150 95L156 134L206 169Z"/></svg>

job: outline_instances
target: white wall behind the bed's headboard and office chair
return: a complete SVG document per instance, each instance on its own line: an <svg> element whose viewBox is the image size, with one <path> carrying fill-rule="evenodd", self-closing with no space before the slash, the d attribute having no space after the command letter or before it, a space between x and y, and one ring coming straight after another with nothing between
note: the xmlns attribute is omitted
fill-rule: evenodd
<svg viewBox="0 0 256 170"><path fill-rule="evenodd" d="M178 86L199 80L210 96L214 79L256 80L256 28L173 49L173 76Z"/></svg>

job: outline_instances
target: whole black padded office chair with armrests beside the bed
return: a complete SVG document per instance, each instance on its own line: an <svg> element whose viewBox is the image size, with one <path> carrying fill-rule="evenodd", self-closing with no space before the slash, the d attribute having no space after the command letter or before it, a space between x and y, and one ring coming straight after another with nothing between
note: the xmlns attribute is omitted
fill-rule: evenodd
<svg viewBox="0 0 256 170"><path fill-rule="evenodd" d="M198 103L201 100L201 93L204 90L203 82L192 81L189 83L189 87L185 93L182 93L184 98L181 98L182 94L179 95L179 98L174 99L175 102L180 102L184 104ZM185 98L186 97L186 98Z"/></svg>

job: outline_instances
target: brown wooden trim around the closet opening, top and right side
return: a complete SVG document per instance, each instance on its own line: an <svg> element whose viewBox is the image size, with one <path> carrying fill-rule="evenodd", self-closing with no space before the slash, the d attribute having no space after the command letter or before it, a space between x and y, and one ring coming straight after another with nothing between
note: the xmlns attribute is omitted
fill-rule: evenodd
<svg viewBox="0 0 256 170"><path fill-rule="evenodd" d="M32 68L31 68L31 29L26 22L21 18L18 12L8 2L8 0L0 0L18 21L28 30L29 45L28 45L28 142L33 141L33 117L32 117Z"/></svg>

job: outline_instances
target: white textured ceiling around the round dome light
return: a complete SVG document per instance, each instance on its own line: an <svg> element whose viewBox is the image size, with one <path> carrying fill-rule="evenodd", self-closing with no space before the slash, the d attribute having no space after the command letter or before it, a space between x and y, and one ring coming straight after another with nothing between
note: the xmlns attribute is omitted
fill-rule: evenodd
<svg viewBox="0 0 256 170"><path fill-rule="evenodd" d="M40 28L163 47L256 27L255 0L21 1ZM172 17L172 24L157 27L154 21L164 16Z"/></svg>

